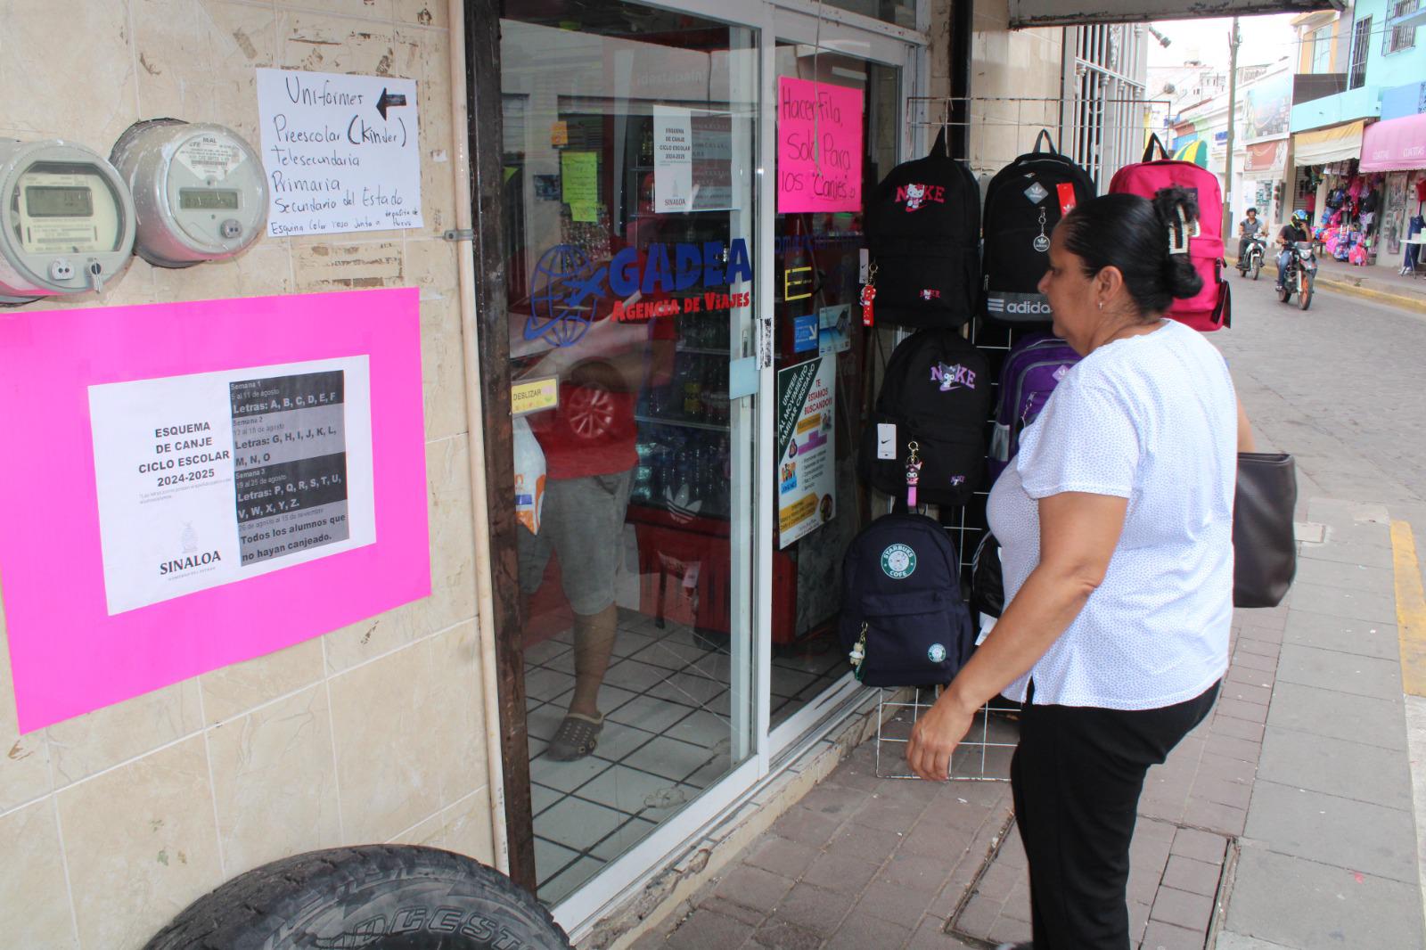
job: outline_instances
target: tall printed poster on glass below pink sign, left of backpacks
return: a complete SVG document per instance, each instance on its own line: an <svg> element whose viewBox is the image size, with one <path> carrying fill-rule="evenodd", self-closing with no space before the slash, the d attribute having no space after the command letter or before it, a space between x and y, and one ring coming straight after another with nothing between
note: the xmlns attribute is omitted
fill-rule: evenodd
<svg viewBox="0 0 1426 950"><path fill-rule="evenodd" d="M837 514L837 361L819 357L777 371L777 546Z"/></svg>

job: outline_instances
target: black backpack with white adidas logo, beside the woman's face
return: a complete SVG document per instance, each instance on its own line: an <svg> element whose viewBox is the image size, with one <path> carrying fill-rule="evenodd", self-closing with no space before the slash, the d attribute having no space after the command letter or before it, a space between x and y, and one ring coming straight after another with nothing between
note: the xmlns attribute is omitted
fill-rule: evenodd
<svg viewBox="0 0 1426 950"><path fill-rule="evenodd" d="M1040 144L1050 150L1041 151ZM1037 287L1050 270L1050 234L1060 218L1094 197L1094 178L1055 151L1044 128L1035 150L1001 168L985 188L981 227L984 312L1007 324L1047 324L1050 302Z"/></svg>

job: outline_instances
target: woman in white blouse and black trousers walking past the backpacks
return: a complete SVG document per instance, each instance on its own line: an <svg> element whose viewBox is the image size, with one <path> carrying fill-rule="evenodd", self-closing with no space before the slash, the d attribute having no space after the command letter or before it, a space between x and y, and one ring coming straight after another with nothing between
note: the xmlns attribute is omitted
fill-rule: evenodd
<svg viewBox="0 0 1426 950"><path fill-rule="evenodd" d="M1196 215L1174 188L1094 198L1055 228L1040 291L1084 359L990 495L1008 606L907 747L918 776L944 780L988 699L1025 703L1011 762L1034 926L1021 947L1128 949L1144 776L1228 669L1241 409L1218 351L1164 318L1202 287Z"/></svg>

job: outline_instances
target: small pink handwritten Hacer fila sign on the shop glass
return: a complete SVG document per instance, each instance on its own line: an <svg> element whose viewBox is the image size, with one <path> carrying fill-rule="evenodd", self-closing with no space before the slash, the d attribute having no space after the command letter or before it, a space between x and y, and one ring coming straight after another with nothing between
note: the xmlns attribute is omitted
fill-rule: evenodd
<svg viewBox="0 0 1426 950"><path fill-rule="evenodd" d="M861 210L861 90L777 81L777 211Z"/></svg>

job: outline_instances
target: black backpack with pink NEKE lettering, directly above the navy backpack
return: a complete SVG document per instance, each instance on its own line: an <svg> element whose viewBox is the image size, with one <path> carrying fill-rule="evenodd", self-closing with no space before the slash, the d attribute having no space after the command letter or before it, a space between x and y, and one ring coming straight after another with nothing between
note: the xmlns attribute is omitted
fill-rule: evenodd
<svg viewBox="0 0 1426 950"><path fill-rule="evenodd" d="M891 351L861 436L863 481L906 502L964 505L985 469L991 399L985 355L954 330L921 330ZM911 498L907 471L917 469Z"/></svg>

